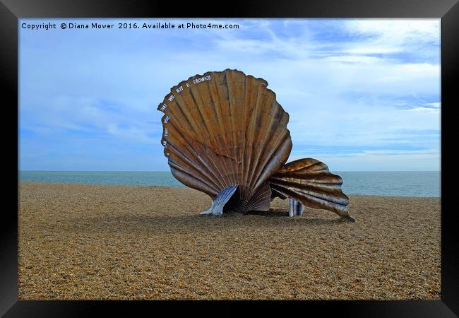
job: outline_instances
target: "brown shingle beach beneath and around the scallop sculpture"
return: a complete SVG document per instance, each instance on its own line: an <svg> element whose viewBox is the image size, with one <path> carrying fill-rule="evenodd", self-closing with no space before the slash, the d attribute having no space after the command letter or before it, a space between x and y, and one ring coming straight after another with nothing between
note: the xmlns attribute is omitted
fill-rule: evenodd
<svg viewBox="0 0 459 318"><path fill-rule="evenodd" d="M441 299L439 198L200 216L189 188L20 182L21 300Z"/></svg>

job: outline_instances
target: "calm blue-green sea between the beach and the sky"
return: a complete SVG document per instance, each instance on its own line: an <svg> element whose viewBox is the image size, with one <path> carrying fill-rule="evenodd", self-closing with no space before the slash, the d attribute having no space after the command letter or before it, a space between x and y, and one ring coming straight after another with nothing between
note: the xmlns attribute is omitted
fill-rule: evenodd
<svg viewBox="0 0 459 318"><path fill-rule="evenodd" d="M441 172L333 172L345 194L440 196ZM22 181L184 187L170 172L20 171Z"/></svg>

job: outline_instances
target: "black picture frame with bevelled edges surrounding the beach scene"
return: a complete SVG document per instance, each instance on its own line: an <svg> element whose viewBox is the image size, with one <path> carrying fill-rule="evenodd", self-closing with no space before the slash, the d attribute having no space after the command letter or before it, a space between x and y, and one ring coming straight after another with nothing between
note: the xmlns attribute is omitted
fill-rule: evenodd
<svg viewBox="0 0 459 318"><path fill-rule="evenodd" d="M257 314L299 314L320 312L340 317L456 317L459 315L458 230L451 196L441 195L441 300L398 301L33 301L18 300L18 19L20 18L441 18L441 187L452 184L454 156L448 146L448 129L453 126L455 90L459 85L458 0L314 0L314 1L230 1L225 10L215 1L70 1L0 0L1 81L6 93L1 110L6 119L4 154L12 159L4 168L8 204L1 214L0 314L4 317L86 317L97 311L115 316L148 315L162 310L167 315L186 312L200 316L255 312ZM9 102L6 102L8 100ZM449 127L449 128L448 128ZM15 138L16 136L16 138ZM457 142L456 142L457 144ZM449 169L448 169L449 168ZM446 171L446 173L443 173ZM454 188L454 186L452 186ZM16 194L16 196L15 196ZM16 210L16 212L15 212Z"/></svg>

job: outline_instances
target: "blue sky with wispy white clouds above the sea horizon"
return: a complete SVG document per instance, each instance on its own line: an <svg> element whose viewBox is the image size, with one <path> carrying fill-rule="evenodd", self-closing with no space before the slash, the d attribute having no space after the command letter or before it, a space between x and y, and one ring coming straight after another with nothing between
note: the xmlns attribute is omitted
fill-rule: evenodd
<svg viewBox="0 0 459 318"><path fill-rule="evenodd" d="M157 105L190 76L238 69L290 114L289 161L439 171L440 21L20 19L20 170L167 171ZM118 28L167 22L176 28ZM27 28L42 23L56 29Z"/></svg>

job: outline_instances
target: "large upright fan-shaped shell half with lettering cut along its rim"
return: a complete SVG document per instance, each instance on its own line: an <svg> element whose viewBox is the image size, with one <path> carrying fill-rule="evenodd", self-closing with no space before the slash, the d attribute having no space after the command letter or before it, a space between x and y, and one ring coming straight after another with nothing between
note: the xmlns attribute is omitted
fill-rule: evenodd
<svg viewBox="0 0 459 318"><path fill-rule="evenodd" d="M262 78L225 70L192 76L158 106L174 177L212 199L238 186L236 211L267 211L268 180L292 149L289 116Z"/></svg>

